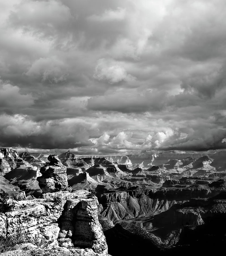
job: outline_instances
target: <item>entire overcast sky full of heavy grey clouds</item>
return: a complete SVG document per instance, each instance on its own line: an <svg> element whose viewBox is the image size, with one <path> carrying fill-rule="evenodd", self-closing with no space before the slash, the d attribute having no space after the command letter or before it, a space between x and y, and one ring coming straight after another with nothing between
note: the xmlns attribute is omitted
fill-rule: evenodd
<svg viewBox="0 0 226 256"><path fill-rule="evenodd" d="M0 146L226 148L224 0L0 1Z"/></svg>

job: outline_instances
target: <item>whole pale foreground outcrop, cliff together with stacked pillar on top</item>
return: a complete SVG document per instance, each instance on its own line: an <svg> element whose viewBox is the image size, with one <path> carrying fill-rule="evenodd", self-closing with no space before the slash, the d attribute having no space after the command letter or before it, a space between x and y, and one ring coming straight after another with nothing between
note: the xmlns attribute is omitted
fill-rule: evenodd
<svg viewBox="0 0 226 256"><path fill-rule="evenodd" d="M108 255L97 198L85 190L70 193L66 167L56 155L48 160L38 177L41 199L6 199L7 208L0 202L6 209L0 213L1 239L19 236L24 242L3 255L46 255L49 249L55 254L48 255Z"/></svg>

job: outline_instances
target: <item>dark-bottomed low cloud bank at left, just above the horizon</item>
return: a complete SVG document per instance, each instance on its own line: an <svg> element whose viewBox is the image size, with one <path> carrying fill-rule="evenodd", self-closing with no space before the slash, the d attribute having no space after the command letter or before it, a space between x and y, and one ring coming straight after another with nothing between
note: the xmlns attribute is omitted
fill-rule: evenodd
<svg viewBox="0 0 226 256"><path fill-rule="evenodd" d="M17 114L1 115L0 120L3 147L53 149L91 145L88 134L92 125L79 118L35 122L27 115Z"/></svg>

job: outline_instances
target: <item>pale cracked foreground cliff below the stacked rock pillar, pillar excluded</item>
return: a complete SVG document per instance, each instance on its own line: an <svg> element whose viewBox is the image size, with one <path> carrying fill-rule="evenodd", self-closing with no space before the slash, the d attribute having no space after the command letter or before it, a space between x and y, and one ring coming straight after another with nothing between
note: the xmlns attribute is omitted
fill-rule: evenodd
<svg viewBox="0 0 226 256"><path fill-rule="evenodd" d="M91 248L94 253L107 255L97 199L89 194L84 190L59 191L45 193L41 199L10 200L12 209L0 215L0 235L20 230L28 238L44 239L48 248Z"/></svg>

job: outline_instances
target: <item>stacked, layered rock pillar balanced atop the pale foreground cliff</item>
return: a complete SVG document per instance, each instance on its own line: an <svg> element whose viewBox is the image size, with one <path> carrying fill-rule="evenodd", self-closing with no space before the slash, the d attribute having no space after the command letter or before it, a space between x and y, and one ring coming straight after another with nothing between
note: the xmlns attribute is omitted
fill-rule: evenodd
<svg viewBox="0 0 226 256"><path fill-rule="evenodd" d="M68 187L66 174L67 168L56 155L49 155L48 160L50 162L40 169L42 176L37 177L42 193L69 191L70 188Z"/></svg>

